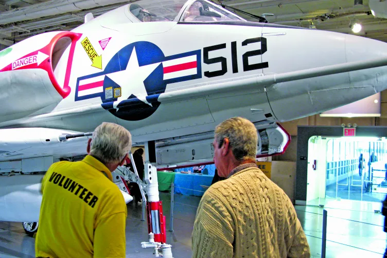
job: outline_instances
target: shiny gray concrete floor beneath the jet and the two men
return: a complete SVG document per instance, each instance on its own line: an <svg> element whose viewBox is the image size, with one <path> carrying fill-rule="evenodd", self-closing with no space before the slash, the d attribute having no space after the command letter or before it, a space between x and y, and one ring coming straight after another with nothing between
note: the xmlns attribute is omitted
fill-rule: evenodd
<svg viewBox="0 0 387 258"><path fill-rule="evenodd" d="M170 194L161 193L161 199L168 231ZM199 197L175 195L174 231L167 232L167 242L173 246L175 258L191 255L191 231L199 201ZM321 257L323 209L310 206L296 206L295 209L307 235L312 257ZM384 217L381 214L337 208L326 210L326 257L382 257L386 233L383 232ZM148 234L146 221L140 221L141 211L140 205L128 204L127 257L154 257L151 249L140 247L140 242L146 241ZM34 238L25 235L21 223L0 222L0 257L34 257Z"/></svg>

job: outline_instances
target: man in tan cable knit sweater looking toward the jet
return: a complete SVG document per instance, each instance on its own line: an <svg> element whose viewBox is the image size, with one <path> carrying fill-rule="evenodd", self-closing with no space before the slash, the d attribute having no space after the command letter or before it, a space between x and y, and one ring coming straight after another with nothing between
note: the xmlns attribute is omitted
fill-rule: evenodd
<svg viewBox="0 0 387 258"><path fill-rule="evenodd" d="M193 258L310 257L284 191L257 168L257 130L247 119L215 129L214 162L226 180L203 195L192 232Z"/></svg>

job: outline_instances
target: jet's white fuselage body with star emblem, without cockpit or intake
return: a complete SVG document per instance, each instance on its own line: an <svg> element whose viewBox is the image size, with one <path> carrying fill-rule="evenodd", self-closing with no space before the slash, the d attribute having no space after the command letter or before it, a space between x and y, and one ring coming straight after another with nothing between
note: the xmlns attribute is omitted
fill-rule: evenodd
<svg viewBox="0 0 387 258"><path fill-rule="evenodd" d="M70 46L63 51L54 69L60 85L68 81L71 92L67 97L58 104L38 110L32 118L15 115L13 118L19 118L15 123L8 118L0 122L0 126L85 132L92 131L101 122L113 122L129 129L134 142L144 142L212 131L217 124L232 116L247 117L253 122L265 119L289 121L354 102L387 87L387 68L378 67L261 87L246 85L245 89L228 93L168 100L168 95L182 90L197 89L200 93L205 85L238 83L248 78L259 81L260 77L272 74L386 57L387 47L384 42L352 35L251 22L133 23L128 18L127 9L127 6L118 8L74 29L73 32L81 36L75 44L71 73L65 73ZM92 48L82 44L86 38ZM102 50L98 41L109 38L108 45ZM128 48L130 45L134 47ZM144 58L150 51L149 45L158 48L157 55L161 53L162 57L146 63ZM130 51L126 51L128 49ZM149 53L156 53L152 51ZM196 77L173 81L173 78L182 77L179 77L179 72L165 74L166 66L179 62L181 55L189 60L192 58L187 57L190 52L196 55ZM92 66L90 53L102 56L101 69ZM168 60L170 58L172 61ZM114 70L114 66L119 68ZM164 67L164 75L156 76L159 70L156 71L155 67L161 71ZM189 71L185 72L189 75ZM151 88L152 79L155 82L163 80L165 90L144 91L143 81L149 80L148 88ZM99 88L80 91L82 83L97 80L103 86L100 84ZM113 84L111 90L107 83ZM107 98L113 96L113 89L119 89L122 95L109 102ZM83 99L87 94L93 95L93 91L100 95ZM132 102L136 103L128 104L125 112L122 108L119 111L119 102L131 95L131 100L135 100ZM155 107L154 102L149 102L152 96L157 96L160 102L156 107L160 106L143 115L144 110L146 113L147 109ZM105 110L102 102L108 102L104 105L111 104L111 107ZM122 112L121 115L117 115L118 112Z"/></svg>

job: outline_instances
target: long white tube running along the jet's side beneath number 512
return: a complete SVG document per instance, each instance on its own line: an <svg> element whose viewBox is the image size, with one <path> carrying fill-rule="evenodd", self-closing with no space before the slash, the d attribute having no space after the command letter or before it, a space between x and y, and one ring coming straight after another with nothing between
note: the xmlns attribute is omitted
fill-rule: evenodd
<svg viewBox="0 0 387 258"><path fill-rule="evenodd" d="M282 74L260 74L256 76L239 77L233 80L217 80L211 83L189 85L189 87L185 89L172 90L166 91L165 93L161 94L155 94L150 96L151 98L148 98L148 102L161 102L163 104L167 102L181 101L184 99L205 97L212 94L233 94L241 91L243 91L244 93L247 93L249 91L263 92L266 91L266 87L270 87L272 85L282 82L346 73L386 65L386 58L378 58L370 59L368 61L355 61L329 66L322 66ZM133 101L132 99L122 100L120 105L121 107L130 107L133 105ZM101 110L101 104L90 104L81 107L75 107L72 109L67 109L65 111L53 111L50 113L36 115L33 117L23 117L19 119L0 122L0 127L16 127L18 125L33 124L36 122L48 121L50 119L57 119L64 116L88 114Z"/></svg>

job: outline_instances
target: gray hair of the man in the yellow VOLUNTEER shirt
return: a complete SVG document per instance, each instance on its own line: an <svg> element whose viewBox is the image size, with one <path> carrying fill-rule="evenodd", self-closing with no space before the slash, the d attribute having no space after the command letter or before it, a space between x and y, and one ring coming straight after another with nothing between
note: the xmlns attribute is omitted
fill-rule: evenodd
<svg viewBox="0 0 387 258"><path fill-rule="evenodd" d="M117 163L131 148L132 135L127 129L104 122L94 130L90 154L104 164Z"/></svg>

